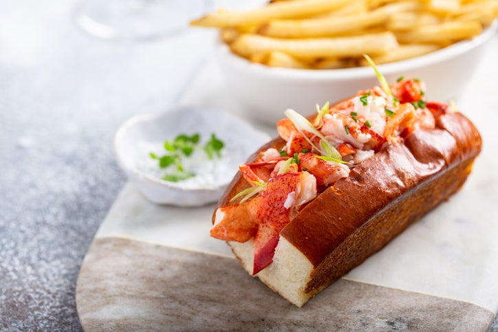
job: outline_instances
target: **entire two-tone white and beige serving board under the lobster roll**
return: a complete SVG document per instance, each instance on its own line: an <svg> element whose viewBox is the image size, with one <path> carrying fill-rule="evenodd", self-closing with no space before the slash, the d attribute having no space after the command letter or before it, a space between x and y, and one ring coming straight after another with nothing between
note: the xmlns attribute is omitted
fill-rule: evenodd
<svg viewBox="0 0 498 332"><path fill-rule="evenodd" d="M302 308L208 236L214 206L155 206L127 184L80 270L83 329L486 331L498 309L497 70L481 67L457 100L484 139L464 188ZM214 61L182 104L237 109Z"/></svg>

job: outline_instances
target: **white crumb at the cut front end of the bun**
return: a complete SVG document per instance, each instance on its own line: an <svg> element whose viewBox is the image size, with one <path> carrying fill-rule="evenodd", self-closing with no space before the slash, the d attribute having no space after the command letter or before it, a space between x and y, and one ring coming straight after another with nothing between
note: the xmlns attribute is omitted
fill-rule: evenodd
<svg viewBox="0 0 498 332"><path fill-rule="evenodd" d="M252 274L254 253L252 239L246 243L228 241L232 251L241 261L244 269ZM304 289L313 271L312 263L287 239L280 236L275 248L273 262L256 276L273 291L297 307L302 307L311 295Z"/></svg>

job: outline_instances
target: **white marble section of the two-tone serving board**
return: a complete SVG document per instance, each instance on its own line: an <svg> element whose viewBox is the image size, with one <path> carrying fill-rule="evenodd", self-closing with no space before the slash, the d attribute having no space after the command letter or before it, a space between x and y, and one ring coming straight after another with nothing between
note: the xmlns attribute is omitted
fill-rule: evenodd
<svg viewBox="0 0 498 332"><path fill-rule="evenodd" d="M371 256L345 278L470 302L498 310L498 36L479 64L457 108L478 126L484 148L464 188ZM428 87L430 89L430 87ZM237 112L215 60L199 73L181 102ZM274 135L274 129L259 126ZM231 256L210 239L214 206L153 206L129 184L97 237L124 236L160 245Z"/></svg>

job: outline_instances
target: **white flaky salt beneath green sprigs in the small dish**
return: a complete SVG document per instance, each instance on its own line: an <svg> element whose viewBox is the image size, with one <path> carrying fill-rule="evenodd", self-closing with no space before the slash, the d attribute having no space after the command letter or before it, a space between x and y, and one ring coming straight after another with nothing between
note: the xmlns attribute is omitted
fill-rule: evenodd
<svg viewBox="0 0 498 332"><path fill-rule="evenodd" d="M168 183L170 186L183 189L212 189L228 184L237 170L239 164L243 162L244 157L241 154L240 148L233 146L230 142L224 142L225 146L221 150L221 157L213 157L208 159L208 156L202 148L196 148L189 156L182 156L182 166L186 173L195 174L194 177L184 179L182 181L164 181L162 177L165 175L176 174L176 166L170 165L166 168L160 168L157 159L152 159L149 153L152 152L158 157L166 155L167 151L162 148L162 142L151 144L143 142L138 144L138 151L141 157L138 157L136 168L155 179L160 179Z"/></svg>

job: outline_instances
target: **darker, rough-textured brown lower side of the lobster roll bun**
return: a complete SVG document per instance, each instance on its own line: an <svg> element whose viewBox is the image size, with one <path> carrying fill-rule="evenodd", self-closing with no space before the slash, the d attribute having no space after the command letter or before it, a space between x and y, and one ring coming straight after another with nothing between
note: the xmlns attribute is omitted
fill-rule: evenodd
<svg viewBox="0 0 498 332"><path fill-rule="evenodd" d="M472 162L473 159L466 159L455 164L455 167L446 168L374 214L318 263L308 280L305 293L313 296L321 291L447 199L464 184Z"/></svg>

